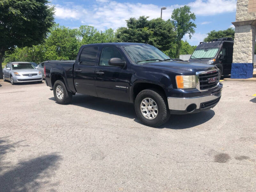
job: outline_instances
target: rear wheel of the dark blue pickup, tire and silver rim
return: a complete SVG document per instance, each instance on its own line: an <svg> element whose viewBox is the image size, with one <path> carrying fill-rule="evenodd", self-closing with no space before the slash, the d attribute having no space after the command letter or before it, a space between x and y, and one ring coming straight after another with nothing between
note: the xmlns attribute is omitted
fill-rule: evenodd
<svg viewBox="0 0 256 192"><path fill-rule="evenodd" d="M62 80L55 81L53 85L54 98L59 104L68 104L72 100L72 93L68 92L66 85Z"/></svg>

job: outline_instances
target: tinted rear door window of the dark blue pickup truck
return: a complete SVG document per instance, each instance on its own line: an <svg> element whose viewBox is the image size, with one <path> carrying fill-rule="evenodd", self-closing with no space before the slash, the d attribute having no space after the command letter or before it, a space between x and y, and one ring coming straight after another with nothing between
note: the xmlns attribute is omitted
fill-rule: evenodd
<svg viewBox="0 0 256 192"><path fill-rule="evenodd" d="M79 59L80 65L95 65L97 53L98 47L84 47Z"/></svg>

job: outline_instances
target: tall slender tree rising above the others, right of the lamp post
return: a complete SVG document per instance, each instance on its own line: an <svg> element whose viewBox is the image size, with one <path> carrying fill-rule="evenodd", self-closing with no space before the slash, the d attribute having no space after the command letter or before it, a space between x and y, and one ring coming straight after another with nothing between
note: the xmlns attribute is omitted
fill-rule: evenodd
<svg viewBox="0 0 256 192"><path fill-rule="evenodd" d="M193 20L196 20L196 15L191 13L190 7L185 5L183 7L174 9L172 12L172 24L177 33L176 36L176 57L180 55L181 39L185 34L189 35L189 39L195 33L196 24Z"/></svg>

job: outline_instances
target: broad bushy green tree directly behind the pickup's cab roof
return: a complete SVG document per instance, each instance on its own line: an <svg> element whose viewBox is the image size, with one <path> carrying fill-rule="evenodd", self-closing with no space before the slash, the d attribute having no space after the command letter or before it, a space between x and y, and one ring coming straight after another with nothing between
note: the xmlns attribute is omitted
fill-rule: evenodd
<svg viewBox="0 0 256 192"><path fill-rule="evenodd" d="M126 20L126 25L116 30L118 42L148 43L167 51L175 41L176 33L171 20L148 20L148 17L140 16L139 19Z"/></svg>

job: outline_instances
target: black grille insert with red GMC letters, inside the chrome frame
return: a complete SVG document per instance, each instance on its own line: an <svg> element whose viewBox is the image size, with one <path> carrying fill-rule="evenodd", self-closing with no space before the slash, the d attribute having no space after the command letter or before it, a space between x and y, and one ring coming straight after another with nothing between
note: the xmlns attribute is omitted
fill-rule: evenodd
<svg viewBox="0 0 256 192"><path fill-rule="evenodd" d="M200 90L211 89L219 83L219 71L210 71L199 75Z"/></svg>

